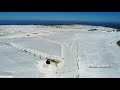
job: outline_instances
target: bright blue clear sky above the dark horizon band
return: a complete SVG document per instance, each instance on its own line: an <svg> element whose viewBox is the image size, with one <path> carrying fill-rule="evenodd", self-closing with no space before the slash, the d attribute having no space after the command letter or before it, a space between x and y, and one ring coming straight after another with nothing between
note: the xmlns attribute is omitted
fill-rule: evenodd
<svg viewBox="0 0 120 90"><path fill-rule="evenodd" d="M120 12L0 12L0 20L120 22Z"/></svg>

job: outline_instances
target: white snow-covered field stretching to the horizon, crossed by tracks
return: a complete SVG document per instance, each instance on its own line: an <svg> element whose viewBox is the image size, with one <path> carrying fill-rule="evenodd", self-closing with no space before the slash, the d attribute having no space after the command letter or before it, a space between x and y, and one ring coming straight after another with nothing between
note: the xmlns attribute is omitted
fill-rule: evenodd
<svg viewBox="0 0 120 90"><path fill-rule="evenodd" d="M0 78L119 78L120 32L90 25L0 25ZM47 58L60 63L46 64Z"/></svg>

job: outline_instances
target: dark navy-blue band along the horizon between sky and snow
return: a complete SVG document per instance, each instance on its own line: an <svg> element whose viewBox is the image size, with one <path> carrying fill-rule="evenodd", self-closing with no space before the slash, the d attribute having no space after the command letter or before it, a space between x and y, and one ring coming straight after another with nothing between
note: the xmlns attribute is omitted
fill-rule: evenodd
<svg viewBox="0 0 120 90"><path fill-rule="evenodd" d="M80 22L80 21L53 21L53 20L0 20L0 25L94 25L120 29L120 23L115 22Z"/></svg>

